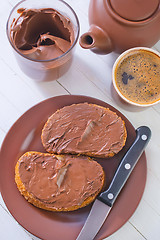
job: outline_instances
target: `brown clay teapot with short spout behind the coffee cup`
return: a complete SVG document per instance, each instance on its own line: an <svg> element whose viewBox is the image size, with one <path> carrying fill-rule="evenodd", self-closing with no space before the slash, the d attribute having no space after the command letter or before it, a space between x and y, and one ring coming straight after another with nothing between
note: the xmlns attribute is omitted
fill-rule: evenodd
<svg viewBox="0 0 160 240"><path fill-rule="evenodd" d="M160 39L160 0L91 0L80 45L100 54L152 47Z"/></svg>

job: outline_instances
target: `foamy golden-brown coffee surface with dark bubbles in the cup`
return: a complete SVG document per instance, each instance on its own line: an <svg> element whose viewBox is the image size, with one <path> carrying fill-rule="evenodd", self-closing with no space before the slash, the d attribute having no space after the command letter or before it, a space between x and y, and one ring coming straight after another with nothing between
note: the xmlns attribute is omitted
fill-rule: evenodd
<svg viewBox="0 0 160 240"><path fill-rule="evenodd" d="M160 56L144 49L133 50L118 62L115 83L120 93L136 104L160 100Z"/></svg>

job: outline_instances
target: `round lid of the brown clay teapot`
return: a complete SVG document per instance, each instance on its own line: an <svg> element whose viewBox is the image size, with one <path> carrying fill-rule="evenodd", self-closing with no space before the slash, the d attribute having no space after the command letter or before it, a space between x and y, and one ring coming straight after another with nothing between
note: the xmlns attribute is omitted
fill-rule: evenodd
<svg viewBox="0 0 160 240"><path fill-rule="evenodd" d="M113 10L121 17L140 21L150 17L158 8L159 0L109 0Z"/></svg>

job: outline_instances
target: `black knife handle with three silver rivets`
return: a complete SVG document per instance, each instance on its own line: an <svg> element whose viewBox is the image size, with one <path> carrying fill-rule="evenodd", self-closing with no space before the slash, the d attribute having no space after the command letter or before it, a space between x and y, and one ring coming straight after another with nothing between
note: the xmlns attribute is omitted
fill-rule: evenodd
<svg viewBox="0 0 160 240"><path fill-rule="evenodd" d="M142 126L137 128L134 143L122 158L109 188L98 196L100 201L112 207L150 138L151 130L148 127Z"/></svg>

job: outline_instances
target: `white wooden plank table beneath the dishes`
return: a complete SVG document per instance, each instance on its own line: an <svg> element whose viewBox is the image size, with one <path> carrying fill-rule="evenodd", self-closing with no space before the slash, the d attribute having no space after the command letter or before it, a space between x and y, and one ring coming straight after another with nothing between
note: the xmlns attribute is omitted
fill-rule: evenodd
<svg viewBox="0 0 160 240"><path fill-rule="evenodd" d="M81 31L88 30L89 0L67 1L76 11ZM6 36L6 21L17 0L0 3L0 145L12 124L30 107L52 96L79 94L103 100L121 111L135 128L147 125L152 138L146 148L147 183L142 200L129 221L108 240L160 239L160 104L128 107L112 91L111 70L117 54L100 56L77 45L69 72L56 81L35 82L20 70ZM160 42L155 46L160 51ZM0 239L37 239L8 212L0 195ZM61 239L60 239L61 240ZM85 239L84 239L85 240Z"/></svg>

